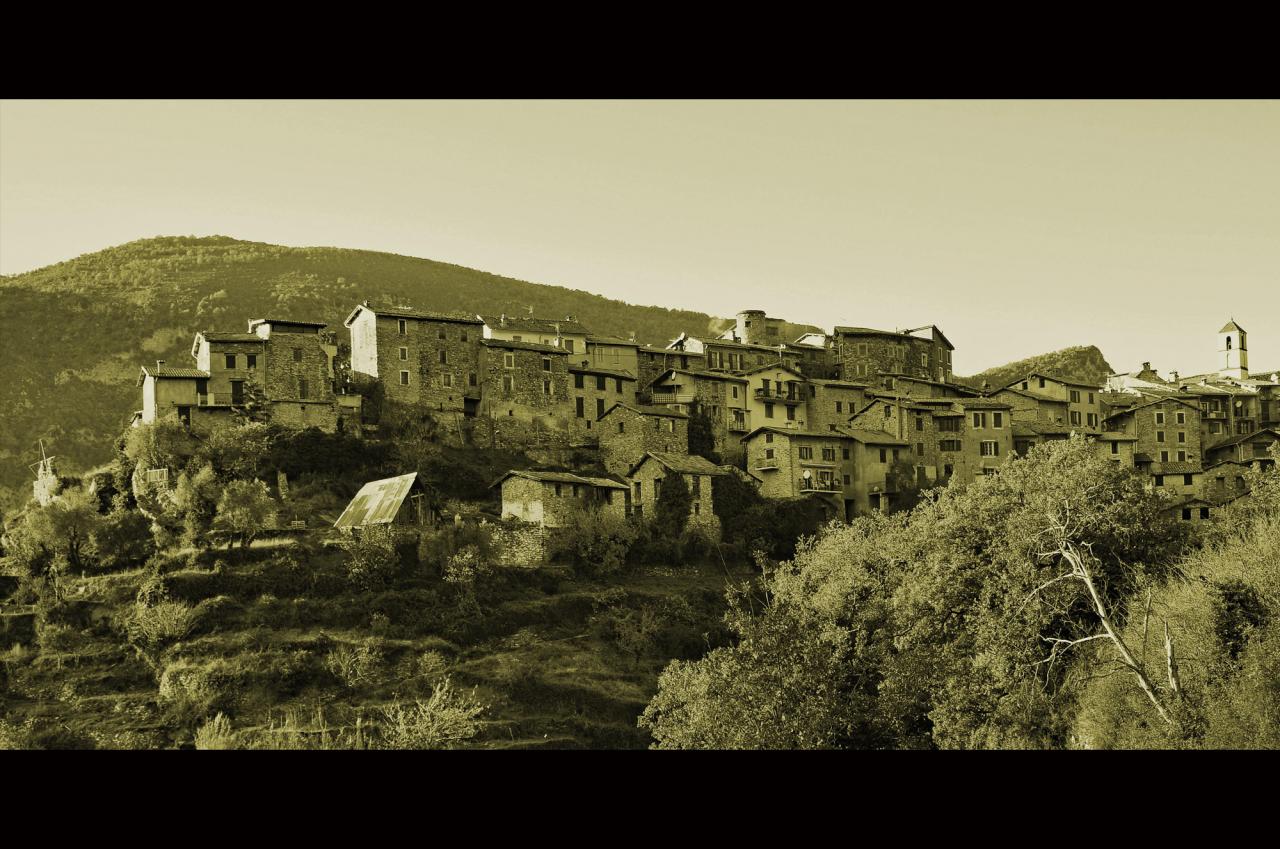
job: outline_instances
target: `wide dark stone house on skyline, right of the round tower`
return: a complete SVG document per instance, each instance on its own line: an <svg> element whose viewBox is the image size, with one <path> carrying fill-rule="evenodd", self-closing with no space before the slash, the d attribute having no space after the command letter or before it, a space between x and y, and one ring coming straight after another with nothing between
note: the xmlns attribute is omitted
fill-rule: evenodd
<svg viewBox="0 0 1280 849"><path fill-rule="evenodd" d="M876 374L908 374L938 383L952 380L955 346L936 325L911 330L836 327L832 339L832 356L845 380Z"/></svg>

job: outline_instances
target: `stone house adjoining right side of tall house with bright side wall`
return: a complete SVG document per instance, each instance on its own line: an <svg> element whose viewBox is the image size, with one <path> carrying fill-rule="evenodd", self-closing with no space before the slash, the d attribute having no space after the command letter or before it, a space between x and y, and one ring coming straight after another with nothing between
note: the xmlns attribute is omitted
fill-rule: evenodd
<svg viewBox="0 0 1280 849"><path fill-rule="evenodd" d="M481 348L483 415L570 429L573 407L564 348L498 338L484 339Z"/></svg>

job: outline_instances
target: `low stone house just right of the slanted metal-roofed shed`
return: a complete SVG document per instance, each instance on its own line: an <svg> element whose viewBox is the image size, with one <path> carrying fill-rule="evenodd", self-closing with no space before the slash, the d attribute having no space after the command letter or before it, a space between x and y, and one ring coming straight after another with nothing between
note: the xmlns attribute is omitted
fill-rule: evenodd
<svg viewBox="0 0 1280 849"><path fill-rule="evenodd" d="M627 515L627 485L608 478L563 471L512 470L493 483L502 493L502 517L563 528L573 511L602 510Z"/></svg>

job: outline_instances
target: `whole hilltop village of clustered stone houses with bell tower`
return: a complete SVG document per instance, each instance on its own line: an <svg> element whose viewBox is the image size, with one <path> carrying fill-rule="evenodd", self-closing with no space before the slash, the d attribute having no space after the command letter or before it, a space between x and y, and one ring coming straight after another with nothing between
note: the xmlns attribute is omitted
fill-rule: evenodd
<svg viewBox="0 0 1280 849"><path fill-rule="evenodd" d="M1148 475L1170 511L1198 521L1245 494L1244 470L1272 464L1267 449L1280 441L1280 375L1251 374L1234 320L1217 334L1217 369L1203 374L1162 378L1143 364L1105 385L1033 373L982 389L954 379L955 348L933 325L785 339L782 320L748 310L719 336L657 347L594 334L572 316L367 301L344 325L349 356L314 321L200 332L193 362L142 368L133 423L209 433L252 407L289 428L378 438L389 410L416 411L444 443L518 449L562 469L512 469L494 481L503 519L556 528L575 506L643 516L662 481L681 475L694 496L690 528L713 538L717 476L764 498L817 498L851 520L895 508L909 490L995 474L1010 455L1071 434ZM563 470L582 457L596 460L594 473ZM421 489L403 478L370 481L338 525L358 528L376 511L426 521L421 507L401 510ZM389 507L379 506L384 492Z"/></svg>

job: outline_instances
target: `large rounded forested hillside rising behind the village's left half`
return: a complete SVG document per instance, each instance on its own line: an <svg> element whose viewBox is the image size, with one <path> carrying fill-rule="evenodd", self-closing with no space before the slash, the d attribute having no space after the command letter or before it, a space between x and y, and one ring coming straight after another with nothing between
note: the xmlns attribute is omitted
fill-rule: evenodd
<svg viewBox="0 0 1280 849"><path fill-rule="evenodd" d="M333 247L282 247L214 236L129 242L0 278L0 506L26 498L45 439L67 471L110 456L140 406L138 366L189 362L200 329L250 318L342 320L358 301L426 310L573 315L602 334L666 342L727 327L703 312L634 306L433 260ZM736 309L735 305L727 305Z"/></svg>

